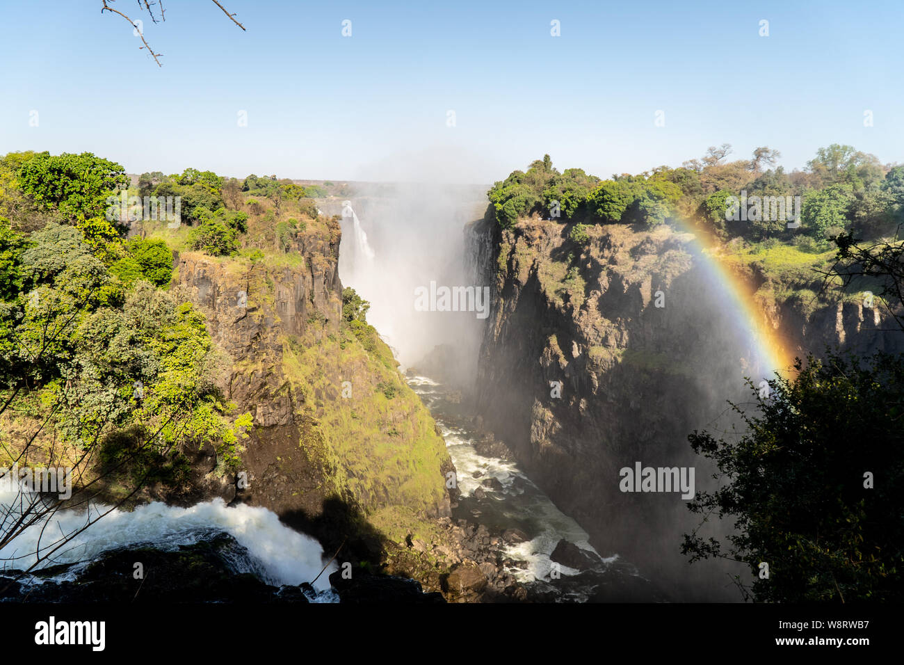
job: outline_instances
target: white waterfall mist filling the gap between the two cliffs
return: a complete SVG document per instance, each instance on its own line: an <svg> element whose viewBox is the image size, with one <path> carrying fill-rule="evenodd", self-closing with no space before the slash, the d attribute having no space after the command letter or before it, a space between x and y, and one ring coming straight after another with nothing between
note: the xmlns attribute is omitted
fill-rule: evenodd
<svg viewBox="0 0 904 665"><path fill-rule="evenodd" d="M419 311L416 291L431 282L484 286L466 270L465 225L483 214L485 192L482 185L438 182L355 185L343 206L339 277L371 303L367 320L403 369L446 347L458 358L447 367L456 380L475 375L485 318L475 311Z"/></svg>

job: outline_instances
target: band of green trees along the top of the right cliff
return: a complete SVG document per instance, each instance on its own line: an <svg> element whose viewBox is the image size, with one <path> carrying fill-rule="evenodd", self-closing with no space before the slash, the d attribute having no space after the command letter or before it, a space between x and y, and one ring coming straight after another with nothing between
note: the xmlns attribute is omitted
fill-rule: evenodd
<svg viewBox="0 0 904 665"><path fill-rule="evenodd" d="M560 173L545 155L495 183L488 196L503 228L531 214L561 223L642 228L683 219L722 241L807 235L824 247L839 233L892 233L904 220L904 167L882 166L850 146L820 148L805 171L792 173L776 166L780 155L767 147L758 147L749 160L726 162L729 154L728 145L711 147L683 166L607 180L579 168ZM798 213L800 226L789 228Z"/></svg>

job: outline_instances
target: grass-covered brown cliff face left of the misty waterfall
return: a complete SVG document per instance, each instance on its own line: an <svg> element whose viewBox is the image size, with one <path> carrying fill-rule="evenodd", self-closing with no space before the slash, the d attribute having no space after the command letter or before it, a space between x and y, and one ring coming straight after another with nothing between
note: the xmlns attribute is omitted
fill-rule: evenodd
<svg viewBox="0 0 904 665"><path fill-rule="evenodd" d="M209 474L208 491L269 508L325 546L348 538L342 560L374 561L388 516L449 514L451 462L388 347L342 320L338 225L295 242L258 261L178 257L179 284L228 356L221 390L254 418L240 464L250 486Z"/></svg>

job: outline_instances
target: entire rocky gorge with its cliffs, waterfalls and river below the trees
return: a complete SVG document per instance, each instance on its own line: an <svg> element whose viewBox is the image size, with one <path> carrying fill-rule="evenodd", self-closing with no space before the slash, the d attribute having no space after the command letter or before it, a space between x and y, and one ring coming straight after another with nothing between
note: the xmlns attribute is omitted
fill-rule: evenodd
<svg viewBox="0 0 904 665"><path fill-rule="evenodd" d="M5 597L126 593L99 571L140 551L158 570L200 557L227 601L233 575L287 602L739 600L742 566L679 549L727 533L686 509L695 483L715 487L688 434L738 425L745 377L899 338L861 302L763 300L774 276L726 280L679 224L578 226L504 227L483 188L425 184L318 199L275 255L133 225L172 247L170 289L202 313L216 387L253 427L236 472L191 449L185 480L149 484L30 575L5 548ZM638 460L677 482L625 489ZM54 519L18 546L82 517Z"/></svg>

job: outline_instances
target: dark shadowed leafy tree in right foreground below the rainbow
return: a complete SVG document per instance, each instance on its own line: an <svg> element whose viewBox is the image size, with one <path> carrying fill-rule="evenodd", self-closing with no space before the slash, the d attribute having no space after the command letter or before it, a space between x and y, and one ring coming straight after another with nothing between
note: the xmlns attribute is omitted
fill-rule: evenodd
<svg viewBox="0 0 904 665"><path fill-rule="evenodd" d="M757 409L736 407L746 425L739 439L689 437L723 482L689 508L732 519L736 531L725 540L686 535L683 553L749 565L757 601L900 602L904 356L829 354L796 369L768 382L768 396L749 384ZM761 562L767 578L757 575Z"/></svg>

